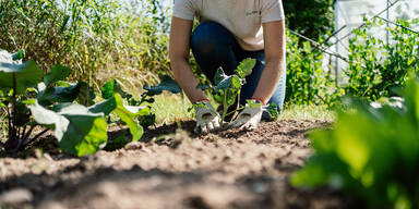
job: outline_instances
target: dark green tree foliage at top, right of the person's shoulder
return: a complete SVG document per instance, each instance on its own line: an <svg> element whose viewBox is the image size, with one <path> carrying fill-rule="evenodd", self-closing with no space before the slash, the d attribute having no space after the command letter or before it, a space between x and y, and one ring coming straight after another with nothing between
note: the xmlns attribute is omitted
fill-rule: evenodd
<svg viewBox="0 0 419 209"><path fill-rule="evenodd" d="M333 32L333 0L284 0L287 26L313 40Z"/></svg>

